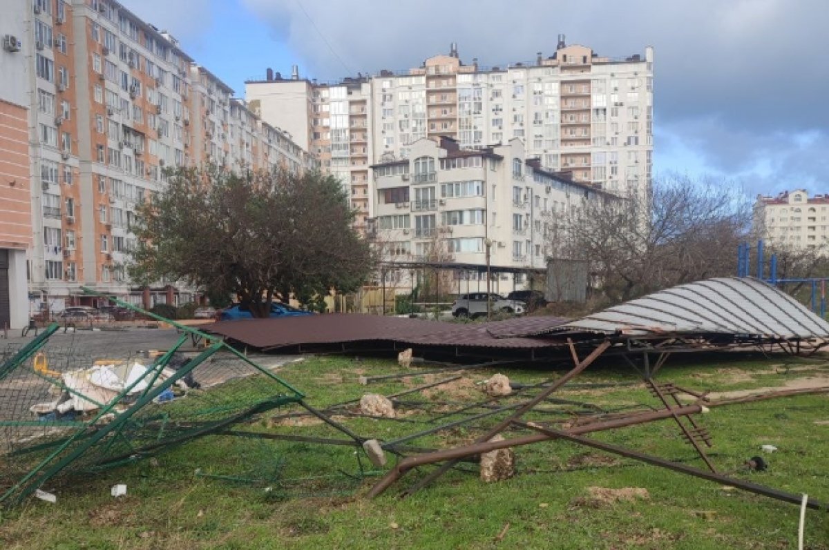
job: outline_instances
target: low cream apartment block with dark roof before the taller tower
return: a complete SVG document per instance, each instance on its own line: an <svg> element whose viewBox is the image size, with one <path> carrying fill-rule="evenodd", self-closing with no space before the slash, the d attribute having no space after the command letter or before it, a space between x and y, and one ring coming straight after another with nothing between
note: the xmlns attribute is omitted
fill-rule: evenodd
<svg viewBox="0 0 829 550"><path fill-rule="evenodd" d="M517 137L481 149L422 137L410 152L371 166L376 218L368 234L389 264L482 266L489 248L494 266L545 268L554 217L613 196L526 161Z"/></svg>

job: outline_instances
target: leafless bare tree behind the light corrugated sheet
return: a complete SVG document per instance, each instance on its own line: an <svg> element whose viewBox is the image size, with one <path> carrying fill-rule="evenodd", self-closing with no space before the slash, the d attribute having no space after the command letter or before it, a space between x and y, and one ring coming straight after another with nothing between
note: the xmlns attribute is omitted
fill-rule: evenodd
<svg viewBox="0 0 829 550"><path fill-rule="evenodd" d="M751 219L734 186L671 176L652 192L584 200L548 220L551 253L589 262L594 286L618 303L736 272Z"/></svg>

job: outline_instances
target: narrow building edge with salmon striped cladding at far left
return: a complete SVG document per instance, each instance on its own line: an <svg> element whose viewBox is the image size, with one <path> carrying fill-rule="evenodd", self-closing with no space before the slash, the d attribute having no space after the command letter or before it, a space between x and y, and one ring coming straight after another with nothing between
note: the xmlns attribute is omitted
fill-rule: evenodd
<svg viewBox="0 0 829 550"><path fill-rule="evenodd" d="M10 0L4 7L12 13L25 8L25 0ZM26 251L32 245L32 202L25 35L20 18L0 21L0 330L25 326L29 318Z"/></svg>

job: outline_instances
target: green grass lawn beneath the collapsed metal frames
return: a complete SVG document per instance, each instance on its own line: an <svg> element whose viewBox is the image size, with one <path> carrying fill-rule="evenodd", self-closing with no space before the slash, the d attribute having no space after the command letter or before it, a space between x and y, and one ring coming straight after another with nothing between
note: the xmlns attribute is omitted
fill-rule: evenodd
<svg viewBox="0 0 829 550"><path fill-rule="evenodd" d="M574 382L636 381L633 370L620 363L599 364ZM327 357L289 364L279 374L307 393L309 403L318 408L366 392L394 393L443 378L414 376L367 387L357 381L361 374L399 370L381 359ZM469 371L466 376L478 381L494 372ZM503 372L513 380L533 383L563 371L534 366ZM658 378L722 391L780 386L788 379L826 372L823 364L805 359L697 355L670 359ZM556 395L608 410L656 404L637 386L565 388ZM460 403L481 398L436 389L428 397L412 394L405 400ZM554 404L545 408L557 414L529 417L552 420L564 418L562 411L578 410ZM431 426L429 414L414 409L404 413L403 418L412 422L338 420L361 435L381 439ZM720 471L797 494L806 492L827 503L829 426L814 423L819 420L829 420L827 395L715 408L702 422L714 437L710 455ZM263 419L249 428L342 437L318 423L286 426ZM671 422L659 422L594 437L701 466L677 433ZM455 429L412 444L444 447L469 441L475 434L472 429ZM779 448L766 456L769 469L745 471L743 461L759 454L764 443ZM791 504L723 490L715 483L563 441L516 448L516 457L518 474L511 480L487 485L474 473L456 471L407 499L397 499L400 490L429 471L424 468L406 475L380 498L367 500L362 495L377 478L349 476L359 471L350 447L206 437L154 459L56 487L57 504L32 499L4 511L0 548L797 548L799 510ZM252 482L196 476L197 468L205 474L249 477ZM127 497L109 496L115 483L128 485ZM590 486L642 487L649 497L594 504L585 499ZM826 511L807 512L806 541L807 548L829 548Z"/></svg>

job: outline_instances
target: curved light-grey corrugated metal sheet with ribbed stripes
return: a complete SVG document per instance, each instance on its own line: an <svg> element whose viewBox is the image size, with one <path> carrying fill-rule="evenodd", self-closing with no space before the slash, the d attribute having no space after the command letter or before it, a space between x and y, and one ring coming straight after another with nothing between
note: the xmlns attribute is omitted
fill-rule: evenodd
<svg viewBox="0 0 829 550"><path fill-rule="evenodd" d="M829 324L807 307L753 277L691 282L609 307L546 334L714 333L773 338L827 338Z"/></svg>

